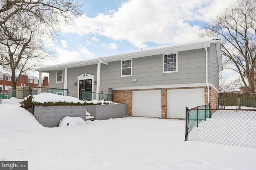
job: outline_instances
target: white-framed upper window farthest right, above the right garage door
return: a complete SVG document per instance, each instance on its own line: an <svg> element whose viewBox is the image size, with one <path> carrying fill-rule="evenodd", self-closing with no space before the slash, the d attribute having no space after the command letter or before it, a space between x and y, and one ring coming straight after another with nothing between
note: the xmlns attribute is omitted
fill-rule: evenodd
<svg viewBox="0 0 256 170"><path fill-rule="evenodd" d="M177 59L178 59L177 53L164 54L163 55L163 73L177 72L178 71Z"/></svg>

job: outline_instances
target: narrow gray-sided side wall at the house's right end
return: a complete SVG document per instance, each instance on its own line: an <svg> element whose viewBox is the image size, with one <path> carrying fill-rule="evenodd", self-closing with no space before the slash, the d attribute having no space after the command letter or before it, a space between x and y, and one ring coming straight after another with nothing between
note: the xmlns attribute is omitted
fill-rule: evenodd
<svg viewBox="0 0 256 170"><path fill-rule="evenodd" d="M214 58L215 58L215 68L217 75L214 73ZM209 62L208 62L209 63ZM214 87L219 89L219 66L217 59L217 51L215 43L210 44L210 70L208 70L208 81L213 84Z"/></svg>

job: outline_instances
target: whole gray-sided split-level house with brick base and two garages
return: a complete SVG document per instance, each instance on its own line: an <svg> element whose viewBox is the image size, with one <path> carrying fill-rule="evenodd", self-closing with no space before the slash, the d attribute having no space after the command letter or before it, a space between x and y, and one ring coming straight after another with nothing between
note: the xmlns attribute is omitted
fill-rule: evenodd
<svg viewBox="0 0 256 170"><path fill-rule="evenodd" d="M184 118L186 106L216 108L222 57L220 41L207 38L37 70L49 72L49 86L68 88L69 96L112 94L130 116Z"/></svg>

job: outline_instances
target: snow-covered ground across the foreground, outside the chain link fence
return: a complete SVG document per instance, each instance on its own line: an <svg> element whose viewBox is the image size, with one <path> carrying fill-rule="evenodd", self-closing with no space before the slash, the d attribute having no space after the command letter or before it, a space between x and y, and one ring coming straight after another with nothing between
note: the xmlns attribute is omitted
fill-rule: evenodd
<svg viewBox="0 0 256 170"><path fill-rule="evenodd" d="M0 105L0 160L29 170L253 170L256 148L184 142L185 121L126 117L42 127L18 105Z"/></svg>

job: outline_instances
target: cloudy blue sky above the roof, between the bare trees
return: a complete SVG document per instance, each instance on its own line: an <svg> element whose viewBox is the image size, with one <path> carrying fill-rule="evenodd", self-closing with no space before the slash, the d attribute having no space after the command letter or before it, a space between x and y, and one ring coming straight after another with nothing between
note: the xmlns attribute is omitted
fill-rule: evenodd
<svg viewBox="0 0 256 170"><path fill-rule="evenodd" d="M51 64L198 39L204 23L234 0L81 0L84 15L52 42Z"/></svg>

